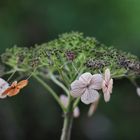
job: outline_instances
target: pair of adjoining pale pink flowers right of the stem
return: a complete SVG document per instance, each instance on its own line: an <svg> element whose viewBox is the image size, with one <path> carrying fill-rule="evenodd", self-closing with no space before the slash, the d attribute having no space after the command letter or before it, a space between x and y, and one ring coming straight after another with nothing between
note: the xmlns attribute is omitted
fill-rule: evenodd
<svg viewBox="0 0 140 140"><path fill-rule="evenodd" d="M78 80L71 84L71 95L73 97L81 97L81 101L85 104L96 102L99 99L98 90L103 91L104 100L110 100L112 93L113 79L110 76L110 70L106 69L105 74L94 74L89 72L83 73Z"/></svg>

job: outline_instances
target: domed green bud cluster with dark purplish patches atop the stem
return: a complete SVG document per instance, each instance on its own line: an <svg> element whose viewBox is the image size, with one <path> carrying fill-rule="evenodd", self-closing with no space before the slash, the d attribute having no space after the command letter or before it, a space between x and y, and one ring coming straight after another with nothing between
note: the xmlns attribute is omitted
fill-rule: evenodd
<svg viewBox="0 0 140 140"><path fill-rule="evenodd" d="M116 77L140 74L140 62L136 56L107 47L95 38L84 37L78 32L62 34L58 39L31 48L14 46L1 55L1 60L3 65L26 72L62 69L66 74L70 72L74 75L74 63L77 69L82 66L82 70L91 73L110 68Z"/></svg>

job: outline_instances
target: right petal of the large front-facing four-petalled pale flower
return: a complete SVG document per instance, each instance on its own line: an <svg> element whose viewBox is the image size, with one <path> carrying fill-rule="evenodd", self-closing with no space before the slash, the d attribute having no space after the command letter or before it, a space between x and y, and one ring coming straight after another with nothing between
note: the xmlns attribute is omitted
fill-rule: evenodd
<svg viewBox="0 0 140 140"><path fill-rule="evenodd" d="M94 74L92 76L91 84L94 87L94 89L99 90L102 88L102 81L103 81L103 78L101 74Z"/></svg>

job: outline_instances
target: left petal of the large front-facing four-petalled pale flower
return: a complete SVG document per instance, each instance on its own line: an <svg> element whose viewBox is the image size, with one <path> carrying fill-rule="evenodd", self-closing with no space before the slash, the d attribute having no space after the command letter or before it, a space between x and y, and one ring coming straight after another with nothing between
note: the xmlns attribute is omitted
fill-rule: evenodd
<svg viewBox="0 0 140 140"><path fill-rule="evenodd" d="M75 80L71 84L71 95L73 97L80 97L86 90L85 85L79 80Z"/></svg>

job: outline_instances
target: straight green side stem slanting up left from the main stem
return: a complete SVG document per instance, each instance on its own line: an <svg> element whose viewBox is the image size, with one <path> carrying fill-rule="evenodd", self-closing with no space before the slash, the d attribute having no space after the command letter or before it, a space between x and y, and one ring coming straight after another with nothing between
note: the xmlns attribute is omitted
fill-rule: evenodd
<svg viewBox="0 0 140 140"><path fill-rule="evenodd" d="M48 91L49 93L54 97L54 99L57 101L57 103L60 105L60 107L62 108L62 110L65 112L65 107L63 106L63 104L61 103L59 97L57 96L57 94L54 92L54 90L52 90L52 88L47 85L40 77L38 77L37 75L33 75L33 77L40 83L42 84Z"/></svg>

